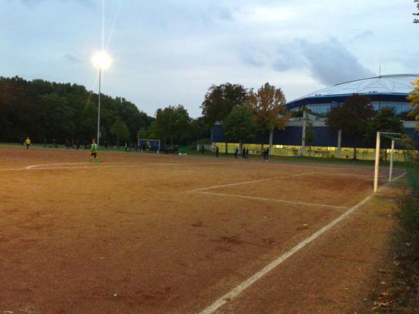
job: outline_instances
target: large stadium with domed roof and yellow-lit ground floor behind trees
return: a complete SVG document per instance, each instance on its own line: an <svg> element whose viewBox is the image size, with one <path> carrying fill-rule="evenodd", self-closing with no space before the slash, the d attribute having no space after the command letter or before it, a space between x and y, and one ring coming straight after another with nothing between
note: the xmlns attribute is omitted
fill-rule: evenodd
<svg viewBox="0 0 419 314"><path fill-rule="evenodd" d="M302 129L307 122L313 125L314 141L304 151L307 156L334 156L336 158L352 158L353 143L341 135L338 141L337 133L330 133L325 125L325 117L333 107L339 107L353 94L368 96L375 110L383 107L391 107L402 119L411 110L409 100L406 97L413 89L412 82L419 77L419 74L402 75L381 75L363 80L355 80L334 85L302 98L291 101L287 104L288 110L301 111L307 109L307 117L291 118L285 130L274 130L272 154L284 156L300 156L302 154ZM419 140L416 132L416 121L404 121L405 132L416 140ZM360 139L363 144L357 151L358 158L374 159L374 148ZM338 142L341 143L339 146ZM212 143L219 146L220 151L233 153L238 141L227 142L223 135L220 123L212 128ZM253 143L247 143L251 154L260 154L260 144L269 143L269 134L256 135ZM358 145L359 146L359 145ZM400 152L399 152L400 153Z"/></svg>

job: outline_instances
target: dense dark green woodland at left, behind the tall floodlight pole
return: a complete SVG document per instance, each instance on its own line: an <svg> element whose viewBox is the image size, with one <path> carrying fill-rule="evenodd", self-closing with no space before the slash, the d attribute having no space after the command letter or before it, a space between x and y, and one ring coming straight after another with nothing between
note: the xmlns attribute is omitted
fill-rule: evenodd
<svg viewBox="0 0 419 314"><path fill-rule="evenodd" d="M98 94L81 85L0 77L0 141L90 140L97 132L97 107ZM153 120L128 100L101 94L101 142L110 140L116 117L126 124L128 140Z"/></svg>

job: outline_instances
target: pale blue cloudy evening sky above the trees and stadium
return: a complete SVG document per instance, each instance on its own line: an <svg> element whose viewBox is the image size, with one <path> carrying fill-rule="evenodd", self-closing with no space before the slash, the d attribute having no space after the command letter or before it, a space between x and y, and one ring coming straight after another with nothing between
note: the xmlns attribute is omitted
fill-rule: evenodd
<svg viewBox="0 0 419 314"><path fill-rule="evenodd" d="M103 45L103 94L195 118L213 84L269 82L291 101L380 64L381 75L419 73L415 10L413 0L0 0L0 76L97 92L91 56Z"/></svg>

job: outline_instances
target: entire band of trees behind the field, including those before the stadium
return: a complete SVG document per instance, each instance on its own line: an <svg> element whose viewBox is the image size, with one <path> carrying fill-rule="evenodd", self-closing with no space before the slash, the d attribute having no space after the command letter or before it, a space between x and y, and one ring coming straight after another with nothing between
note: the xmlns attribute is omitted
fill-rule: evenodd
<svg viewBox="0 0 419 314"><path fill-rule="evenodd" d="M26 136L34 142L90 140L96 135L97 101L98 94L78 84L0 77L0 141L18 142ZM257 90L241 84L213 85L200 108L202 116L197 119L189 117L182 105L160 108L149 117L125 98L101 95L101 141L116 144L148 138L168 145L209 143L212 126L219 122L226 139L240 146L257 133L269 133L272 151L274 128L284 130L292 114L300 117L302 113L288 112L283 91L268 82ZM402 121L394 111L384 109L377 114L369 98L357 94L333 108L326 124L331 132L342 130L355 146L365 136L371 139L376 130L402 132ZM308 131L307 144L315 136L312 128Z"/></svg>

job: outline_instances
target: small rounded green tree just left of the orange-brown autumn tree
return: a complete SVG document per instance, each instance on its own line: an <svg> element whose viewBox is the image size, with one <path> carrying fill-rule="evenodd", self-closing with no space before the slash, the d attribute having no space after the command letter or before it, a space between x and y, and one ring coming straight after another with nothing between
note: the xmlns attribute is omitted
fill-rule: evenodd
<svg viewBox="0 0 419 314"><path fill-rule="evenodd" d="M230 140L239 140L240 151L243 142L255 137L257 126L253 122L251 110L247 106L233 107L230 114L224 119L224 135Z"/></svg>

